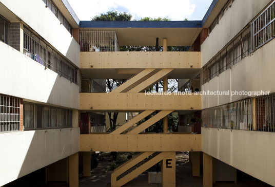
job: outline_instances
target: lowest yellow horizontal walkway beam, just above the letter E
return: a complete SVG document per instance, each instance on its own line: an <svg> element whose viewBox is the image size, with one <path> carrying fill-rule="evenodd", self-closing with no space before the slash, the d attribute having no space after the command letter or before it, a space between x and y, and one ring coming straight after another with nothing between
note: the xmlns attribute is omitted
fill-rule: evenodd
<svg viewBox="0 0 275 187"><path fill-rule="evenodd" d="M80 135L80 152L199 152L201 139L201 135L162 133Z"/></svg>

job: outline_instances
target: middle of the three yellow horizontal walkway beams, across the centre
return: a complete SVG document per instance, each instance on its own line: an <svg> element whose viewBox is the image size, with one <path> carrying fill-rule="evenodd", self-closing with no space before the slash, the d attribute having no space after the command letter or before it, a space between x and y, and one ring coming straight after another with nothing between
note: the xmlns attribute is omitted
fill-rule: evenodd
<svg viewBox="0 0 275 187"><path fill-rule="evenodd" d="M201 96L145 93L80 93L80 110L201 110Z"/></svg>

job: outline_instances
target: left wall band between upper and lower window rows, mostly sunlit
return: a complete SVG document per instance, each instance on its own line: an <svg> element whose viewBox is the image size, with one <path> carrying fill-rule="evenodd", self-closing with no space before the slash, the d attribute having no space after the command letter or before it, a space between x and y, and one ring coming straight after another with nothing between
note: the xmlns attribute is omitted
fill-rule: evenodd
<svg viewBox="0 0 275 187"><path fill-rule="evenodd" d="M1 94L79 108L79 88L64 77L0 42Z"/></svg>

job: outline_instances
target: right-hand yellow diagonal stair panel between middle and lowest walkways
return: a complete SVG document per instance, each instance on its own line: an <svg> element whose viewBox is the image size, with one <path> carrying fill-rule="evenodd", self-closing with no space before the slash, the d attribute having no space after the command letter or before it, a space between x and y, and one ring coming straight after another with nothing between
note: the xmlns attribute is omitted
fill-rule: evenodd
<svg viewBox="0 0 275 187"><path fill-rule="evenodd" d="M141 133L143 130L145 130L146 128L148 128L152 124L160 121L162 118L164 118L165 116L167 116L168 114L170 114L172 111L173 110L161 110L158 114L154 115L153 117L151 117L150 119L148 119L147 121L145 121L144 123L142 123L141 125L135 127L134 129L132 129L127 134L134 135L134 134Z"/></svg>

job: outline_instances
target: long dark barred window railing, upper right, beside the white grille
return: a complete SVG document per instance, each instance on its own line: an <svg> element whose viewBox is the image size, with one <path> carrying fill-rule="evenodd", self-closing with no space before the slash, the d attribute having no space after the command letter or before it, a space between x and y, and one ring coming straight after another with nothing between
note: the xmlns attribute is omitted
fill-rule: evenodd
<svg viewBox="0 0 275 187"><path fill-rule="evenodd" d="M250 54L250 36L248 28L203 68L203 84L219 76L220 73Z"/></svg>

